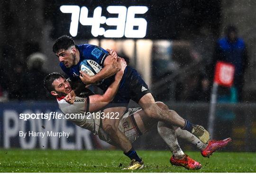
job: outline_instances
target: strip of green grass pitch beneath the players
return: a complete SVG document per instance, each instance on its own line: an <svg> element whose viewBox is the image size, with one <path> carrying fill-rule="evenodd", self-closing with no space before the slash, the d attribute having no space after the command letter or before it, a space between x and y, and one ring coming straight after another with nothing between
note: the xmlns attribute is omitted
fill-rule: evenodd
<svg viewBox="0 0 256 174"><path fill-rule="evenodd" d="M169 151L137 153L146 167L136 172L256 172L256 152L187 152L202 164L196 171L172 166ZM121 170L128 163L121 151L0 149L0 172L130 172Z"/></svg>

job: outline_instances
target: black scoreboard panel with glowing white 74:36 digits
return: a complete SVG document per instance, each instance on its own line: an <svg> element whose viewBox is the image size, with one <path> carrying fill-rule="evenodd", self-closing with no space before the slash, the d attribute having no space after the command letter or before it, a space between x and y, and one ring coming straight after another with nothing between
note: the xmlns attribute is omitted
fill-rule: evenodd
<svg viewBox="0 0 256 174"><path fill-rule="evenodd" d="M175 39L179 6L170 0L56 0L52 37Z"/></svg>

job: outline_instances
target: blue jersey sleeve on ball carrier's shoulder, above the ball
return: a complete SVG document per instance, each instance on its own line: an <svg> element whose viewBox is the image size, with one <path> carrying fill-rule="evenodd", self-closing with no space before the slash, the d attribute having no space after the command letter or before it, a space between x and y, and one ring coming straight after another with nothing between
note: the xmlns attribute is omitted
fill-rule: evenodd
<svg viewBox="0 0 256 174"><path fill-rule="evenodd" d="M104 61L109 55L108 51L91 44L80 45L80 48L82 49L82 54L85 59L94 60L103 67Z"/></svg>

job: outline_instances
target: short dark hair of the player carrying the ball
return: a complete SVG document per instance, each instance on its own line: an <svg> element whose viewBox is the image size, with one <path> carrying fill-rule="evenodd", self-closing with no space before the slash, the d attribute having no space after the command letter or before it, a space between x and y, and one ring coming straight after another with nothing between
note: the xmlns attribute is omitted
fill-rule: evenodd
<svg viewBox="0 0 256 174"><path fill-rule="evenodd" d="M67 35L63 35L55 41L53 45L53 52L56 54L59 50L67 50L70 46L73 45L75 45L73 38Z"/></svg>

